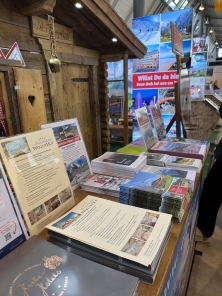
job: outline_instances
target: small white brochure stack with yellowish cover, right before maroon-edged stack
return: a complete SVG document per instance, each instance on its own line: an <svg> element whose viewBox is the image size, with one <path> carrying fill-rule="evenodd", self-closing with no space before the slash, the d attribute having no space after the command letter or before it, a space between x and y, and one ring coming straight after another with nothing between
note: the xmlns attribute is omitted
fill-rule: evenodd
<svg viewBox="0 0 222 296"><path fill-rule="evenodd" d="M192 170L200 173L202 161L195 158L169 156L165 161L165 166L169 168Z"/></svg>

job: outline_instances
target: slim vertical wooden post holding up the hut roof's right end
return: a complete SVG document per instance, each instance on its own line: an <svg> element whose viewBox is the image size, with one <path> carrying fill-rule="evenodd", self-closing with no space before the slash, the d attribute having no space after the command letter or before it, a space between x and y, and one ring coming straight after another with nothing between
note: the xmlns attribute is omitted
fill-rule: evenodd
<svg viewBox="0 0 222 296"><path fill-rule="evenodd" d="M124 146L129 143L128 131L128 54L123 55L124 63Z"/></svg>

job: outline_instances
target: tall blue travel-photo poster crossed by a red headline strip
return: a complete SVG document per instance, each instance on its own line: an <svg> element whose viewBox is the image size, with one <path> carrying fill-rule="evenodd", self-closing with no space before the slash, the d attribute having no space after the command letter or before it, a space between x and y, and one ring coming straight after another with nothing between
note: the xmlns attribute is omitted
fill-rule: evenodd
<svg viewBox="0 0 222 296"><path fill-rule="evenodd" d="M132 31L147 47L143 59L133 60L133 110L159 103L164 116L175 114L174 83L178 81L172 52L170 22L182 35L184 57L190 57L193 9L135 18ZM171 128L171 136L176 130Z"/></svg>

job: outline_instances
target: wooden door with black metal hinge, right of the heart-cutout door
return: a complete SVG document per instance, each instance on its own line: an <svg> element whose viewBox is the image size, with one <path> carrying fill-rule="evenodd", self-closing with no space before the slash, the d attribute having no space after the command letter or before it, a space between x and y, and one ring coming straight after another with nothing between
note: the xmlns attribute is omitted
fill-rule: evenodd
<svg viewBox="0 0 222 296"><path fill-rule="evenodd" d="M88 66L63 64L61 72L56 73L56 87L60 119L78 118L89 158L93 159L97 137L90 109L88 75Z"/></svg>

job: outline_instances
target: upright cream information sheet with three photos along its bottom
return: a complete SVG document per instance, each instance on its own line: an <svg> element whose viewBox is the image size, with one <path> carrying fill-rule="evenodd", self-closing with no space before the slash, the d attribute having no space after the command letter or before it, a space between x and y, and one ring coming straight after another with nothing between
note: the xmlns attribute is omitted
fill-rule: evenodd
<svg viewBox="0 0 222 296"><path fill-rule="evenodd" d="M30 235L74 206L51 129L0 140L0 153Z"/></svg>

